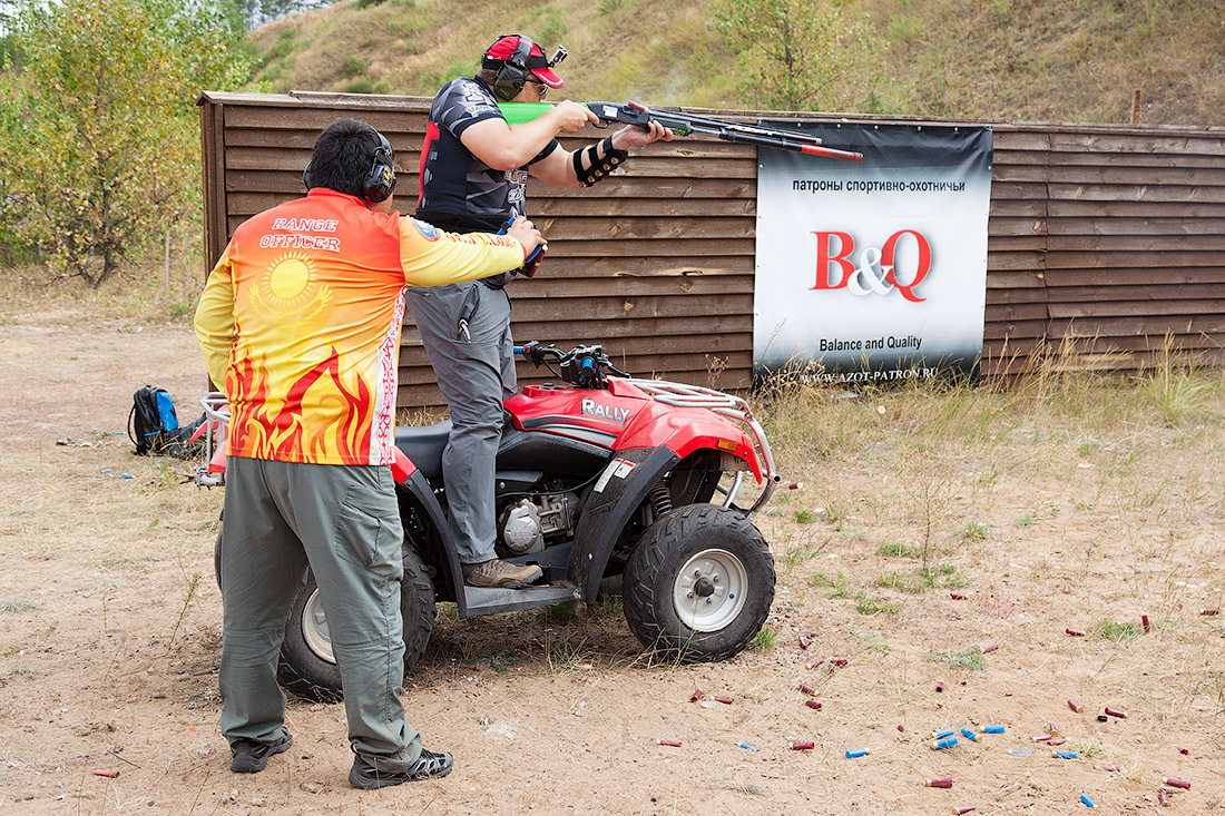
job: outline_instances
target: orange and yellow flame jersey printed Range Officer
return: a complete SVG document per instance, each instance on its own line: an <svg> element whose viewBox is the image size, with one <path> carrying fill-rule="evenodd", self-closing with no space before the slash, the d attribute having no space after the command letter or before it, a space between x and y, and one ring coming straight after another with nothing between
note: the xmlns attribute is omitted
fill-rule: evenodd
<svg viewBox="0 0 1225 816"><path fill-rule="evenodd" d="M316 187L234 230L196 310L230 406L228 455L390 464L405 285L506 272L523 245Z"/></svg>

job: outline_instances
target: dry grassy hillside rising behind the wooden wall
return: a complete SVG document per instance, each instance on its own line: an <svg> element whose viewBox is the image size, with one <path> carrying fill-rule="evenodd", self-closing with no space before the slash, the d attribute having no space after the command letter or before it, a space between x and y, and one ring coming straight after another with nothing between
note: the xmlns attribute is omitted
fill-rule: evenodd
<svg viewBox="0 0 1225 816"><path fill-rule="evenodd" d="M837 0L832 0L837 1ZM826 7L812 0L813 13ZM752 105L745 55L712 26L712 0L348 0L252 33L252 89L432 96L472 74L497 34L551 50L576 99ZM845 0L866 13L882 82L845 113L1225 125L1225 0ZM833 88L838 91L838 88ZM834 94L831 98L846 98ZM831 105L818 105L829 109Z"/></svg>

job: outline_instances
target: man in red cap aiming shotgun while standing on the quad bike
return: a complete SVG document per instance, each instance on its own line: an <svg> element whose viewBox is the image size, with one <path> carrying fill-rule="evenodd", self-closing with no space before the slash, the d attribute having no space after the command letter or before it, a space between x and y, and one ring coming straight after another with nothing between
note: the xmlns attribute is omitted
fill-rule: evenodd
<svg viewBox="0 0 1225 816"><path fill-rule="evenodd" d="M562 80L552 59L521 34L485 50L473 78L451 80L434 98L421 149L417 217L459 233L499 232L524 217L528 175L559 187L590 186L625 162L627 148L671 140L659 123L626 126L573 153L557 142L599 119L561 102L533 121L507 125L499 102L541 102ZM443 484L464 583L519 588L541 577L535 565L495 557L494 470L503 424L502 399L514 396L511 301L518 273L534 274L539 257L506 274L408 293L421 341L451 409L453 429L442 456Z"/></svg>

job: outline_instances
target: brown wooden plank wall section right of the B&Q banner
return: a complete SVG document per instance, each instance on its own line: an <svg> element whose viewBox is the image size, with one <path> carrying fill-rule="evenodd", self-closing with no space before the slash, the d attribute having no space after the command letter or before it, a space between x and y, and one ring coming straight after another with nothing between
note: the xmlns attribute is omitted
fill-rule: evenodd
<svg viewBox="0 0 1225 816"><path fill-rule="evenodd" d="M1225 361L1225 130L996 125L984 363Z"/></svg>

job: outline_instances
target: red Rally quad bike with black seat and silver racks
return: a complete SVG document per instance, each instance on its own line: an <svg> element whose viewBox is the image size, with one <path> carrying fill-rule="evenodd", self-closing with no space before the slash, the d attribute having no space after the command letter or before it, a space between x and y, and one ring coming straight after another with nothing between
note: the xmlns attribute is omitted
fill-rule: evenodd
<svg viewBox="0 0 1225 816"><path fill-rule="evenodd" d="M442 483L451 423L396 431L392 473L404 524L405 668L421 657L436 602L459 618L595 600L622 576L630 629L647 647L686 660L722 660L761 630L774 598L774 559L752 515L778 483L769 444L740 397L699 386L641 380L612 366L599 346L561 352L528 343L516 353L562 383L523 388L506 401L497 453L497 555L537 564L541 584L467 587L459 572ZM554 368L556 364L556 368ZM229 410L202 401L208 434L200 485L224 483ZM761 485L735 504L745 473ZM218 543L219 543L218 538ZM219 566L219 565L218 565ZM341 673L315 578L293 603L278 678L295 695L334 700Z"/></svg>

